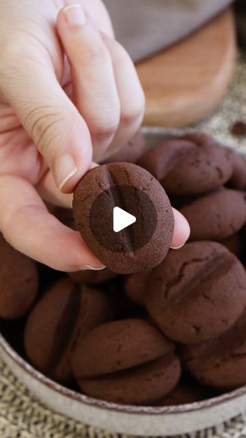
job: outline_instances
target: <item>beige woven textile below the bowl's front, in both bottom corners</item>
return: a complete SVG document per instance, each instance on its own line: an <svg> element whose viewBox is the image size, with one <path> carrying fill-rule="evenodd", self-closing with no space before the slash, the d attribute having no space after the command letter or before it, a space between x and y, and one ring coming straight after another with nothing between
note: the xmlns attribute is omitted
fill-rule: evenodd
<svg viewBox="0 0 246 438"><path fill-rule="evenodd" d="M85 426L59 415L33 398L0 358L0 437L1 438L133 438ZM245 438L246 418L201 433L173 438Z"/></svg>

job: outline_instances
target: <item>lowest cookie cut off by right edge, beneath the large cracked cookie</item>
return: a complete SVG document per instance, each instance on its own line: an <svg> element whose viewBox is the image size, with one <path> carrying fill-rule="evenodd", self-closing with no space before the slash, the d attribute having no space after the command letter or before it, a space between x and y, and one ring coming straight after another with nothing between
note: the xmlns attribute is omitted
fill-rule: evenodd
<svg viewBox="0 0 246 438"><path fill-rule="evenodd" d="M246 384L246 311L217 339L185 346L184 365L203 385L233 389Z"/></svg>

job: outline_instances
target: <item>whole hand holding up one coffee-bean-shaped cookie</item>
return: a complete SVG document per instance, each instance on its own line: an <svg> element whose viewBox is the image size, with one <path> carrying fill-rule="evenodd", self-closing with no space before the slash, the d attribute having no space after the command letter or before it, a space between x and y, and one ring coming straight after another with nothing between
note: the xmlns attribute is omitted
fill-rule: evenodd
<svg viewBox="0 0 246 438"><path fill-rule="evenodd" d="M137 131L144 96L103 3L66 4L0 2L0 229L29 257L73 271L102 264L42 198L70 207L92 156ZM178 214L174 246L187 235Z"/></svg>

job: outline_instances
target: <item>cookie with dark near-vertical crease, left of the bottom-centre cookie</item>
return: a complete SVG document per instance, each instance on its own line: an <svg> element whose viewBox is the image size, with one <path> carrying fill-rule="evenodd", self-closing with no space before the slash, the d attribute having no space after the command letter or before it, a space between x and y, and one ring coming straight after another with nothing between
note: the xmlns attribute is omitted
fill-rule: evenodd
<svg viewBox="0 0 246 438"><path fill-rule="evenodd" d="M25 327L27 357L44 374L69 382L71 355L77 342L110 319L111 307L100 290L61 279L29 314Z"/></svg>

